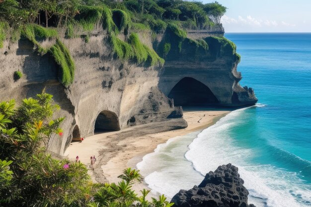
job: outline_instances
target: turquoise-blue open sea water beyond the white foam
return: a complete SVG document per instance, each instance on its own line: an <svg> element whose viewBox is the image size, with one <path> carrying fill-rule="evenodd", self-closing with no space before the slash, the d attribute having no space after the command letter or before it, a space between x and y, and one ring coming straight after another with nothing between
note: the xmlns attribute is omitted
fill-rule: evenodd
<svg viewBox="0 0 311 207"><path fill-rule="evenodd" d="M252 162L297 172L311 183L311 34L227 34L243 57L241 84L265 107L244 111L230 130L255 150Z"/></svg>

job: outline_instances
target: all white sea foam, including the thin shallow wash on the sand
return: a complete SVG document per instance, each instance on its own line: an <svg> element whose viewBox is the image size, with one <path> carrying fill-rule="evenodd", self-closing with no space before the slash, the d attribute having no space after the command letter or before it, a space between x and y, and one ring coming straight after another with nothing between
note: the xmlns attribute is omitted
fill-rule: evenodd
<svg viewBox="0 0 311 207"><path fill-rule="evenodd" d="M137 165L145 182L154 191L172 198L180 189L200 184L203 175L219 165L232 163L238 166L250 193L249 203L257 207L310 207L310 188L303 187L305 184L295 173L252 164L249 160L256 152L238 147L230 137L228 130L239 123L244 110L233 111L200 134L172 138L158 145Z"/></svg>

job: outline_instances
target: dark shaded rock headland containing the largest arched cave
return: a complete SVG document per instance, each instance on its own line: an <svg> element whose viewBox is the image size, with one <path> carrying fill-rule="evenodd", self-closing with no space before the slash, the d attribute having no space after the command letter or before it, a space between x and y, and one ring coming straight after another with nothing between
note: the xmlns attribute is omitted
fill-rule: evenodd
<svg viewBox="0 0 311 207"><path fill-rule="evenodd" d="M221 106L245 106L257 102L252 88L241 87L241 73L237 71L240 57L235 52L235 45L222 38L210 36L206 32L193 35L182 42L171 41L171 49L165 57L164 69L159 75L159 89L175 105L213 104ZM165 37L166 36L166 37ZM155 44L161 54L162 44L172 39L164 34ZM163 40L166 39L166 40ZM204 40L208 50L200 46Z"/></svg>

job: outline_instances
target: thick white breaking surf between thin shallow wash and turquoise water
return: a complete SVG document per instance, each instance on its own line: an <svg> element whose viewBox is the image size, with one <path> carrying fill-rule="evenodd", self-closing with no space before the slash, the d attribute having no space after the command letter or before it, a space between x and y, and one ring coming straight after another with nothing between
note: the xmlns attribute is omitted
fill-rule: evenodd
<svg viewBox="0 0 311 207"><path fill-rule="evenodd" d="M311 201L311 192L299 187L299 183L304 184L295 173L269 165L254 166L248 160L255 152L234 144L227 130L238 122L240 113L242 110L234 111L199 134L189 145L186 158L202 174L229 162L238 166L244 185L250 192L249 203L257 207L304 207L297 202L297 195L305 201Z"/></svg>

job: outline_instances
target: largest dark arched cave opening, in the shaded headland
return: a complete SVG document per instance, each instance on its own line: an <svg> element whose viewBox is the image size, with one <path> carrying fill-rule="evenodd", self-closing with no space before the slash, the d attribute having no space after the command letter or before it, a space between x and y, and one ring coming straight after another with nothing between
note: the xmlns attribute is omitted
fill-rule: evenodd
<svg viewBox="0 0 311 207"><path fill-rule="evenodd" d="M175 106L219 103L209 87L192 77L182 78L169 92L168 98L174 99Z"/></svg>

